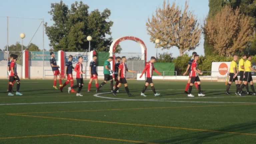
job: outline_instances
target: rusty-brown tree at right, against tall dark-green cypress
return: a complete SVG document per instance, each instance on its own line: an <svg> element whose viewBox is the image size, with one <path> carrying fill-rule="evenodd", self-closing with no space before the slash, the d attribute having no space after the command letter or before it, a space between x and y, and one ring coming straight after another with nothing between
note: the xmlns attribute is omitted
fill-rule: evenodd
<svg viewBox="0 0 256 144"><path fill-rule="evenodd" d="M253 37L251 18L239 12L239 8L232 9L225 6L214 18L204 24L204 33L209 43L214 47L214 53L231 56L242 52Z"/></svg>

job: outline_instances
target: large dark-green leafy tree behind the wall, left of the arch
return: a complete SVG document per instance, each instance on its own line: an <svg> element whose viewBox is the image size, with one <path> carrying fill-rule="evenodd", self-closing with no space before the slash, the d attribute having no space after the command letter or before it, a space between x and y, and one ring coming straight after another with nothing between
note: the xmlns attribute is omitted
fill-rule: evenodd
<svg viewBox="0 0 256 144"><path fill-rule="evenodd" d="M92 36L91 49L105 51L107 45L111 45L112 37L110 27L112 21L107 22L111 12L105 9L102 13L99 10L88 12L89 6L81 2L75 2L69 9L67 5L52 3L51 11L54 24L45 24L46 35L50 39L50 46L54 51L86 51L89 49L87 36Z"/></svg>

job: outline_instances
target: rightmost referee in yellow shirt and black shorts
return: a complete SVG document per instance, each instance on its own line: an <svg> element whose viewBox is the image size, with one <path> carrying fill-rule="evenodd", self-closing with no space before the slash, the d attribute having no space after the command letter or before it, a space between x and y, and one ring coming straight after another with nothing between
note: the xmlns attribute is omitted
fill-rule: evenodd
<svg viewBox="0 0 256 144"><path fill-rule="evenodd" d="M250 82L251 89L253 91L253 95L256 95L254 86L253 86L252 73L251 73L251 71L256 72L256 70L252 68L252 62L251 62L252 56L247 55L246 58L247 58L247 60L244 62L245 79L244 79L244 83L240 87L239 93L241 93L243 88Z"/></svg>

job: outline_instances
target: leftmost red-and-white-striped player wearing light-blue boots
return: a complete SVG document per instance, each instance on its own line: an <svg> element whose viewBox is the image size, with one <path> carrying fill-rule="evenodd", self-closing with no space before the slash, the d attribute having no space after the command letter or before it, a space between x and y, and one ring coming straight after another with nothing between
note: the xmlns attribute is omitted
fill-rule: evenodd
<svg viewBox="0 0 256 144"><path fill-rule="evenodd" d="M12 94L12 83L14 81L17 82L16 95L20 95L20 96L23 95L19 92L19 90L20 90L20 78L17 75L17 65L16 65L17 58L18 58L18 55L13 55L13 60L10 64L11 73L10 73L10 78L9 78L9 89L8 89L9 93L8 93L8 96L13 96L13 94Z"/></svg>

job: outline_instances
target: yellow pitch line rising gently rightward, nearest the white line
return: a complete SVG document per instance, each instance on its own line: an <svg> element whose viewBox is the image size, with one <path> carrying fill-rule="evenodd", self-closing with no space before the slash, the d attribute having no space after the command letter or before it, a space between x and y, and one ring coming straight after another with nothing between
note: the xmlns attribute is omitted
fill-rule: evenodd
<svg viewBox="0 0 256 144"><path fill-rule="evenodd" d="M219 107L219 106L243 106L243 105L256 105L256 104L228 104L228 105L203 105L203 106L148 107L148 108L98 109L98 110L51 111L51 112L5 113L5 114L41 114L41 113L65 113L65 112L147 110L147 109L171 109L171 108L200 108L200 107ZM3 114L0 114L0 115L3 115Z"/></svg>

